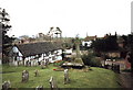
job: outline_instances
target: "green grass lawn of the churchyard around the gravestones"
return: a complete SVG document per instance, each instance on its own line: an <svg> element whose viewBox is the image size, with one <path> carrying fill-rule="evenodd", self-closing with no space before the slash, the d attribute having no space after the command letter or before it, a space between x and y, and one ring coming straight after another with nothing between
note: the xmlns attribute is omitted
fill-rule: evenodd
<svg viewBox="0 0 133 90"><path fill-rule="evenodd" d="M117 75L112 70L91 67L92 71L84 72L79 69L70 69L70 83L63 83L63 71L54 71L57 67L49 65L48 68L41 69L37 67L14 67L14 66L2 66L2 82L6 80L11 81L12 88L35 88L37 86L43 86L50 88L49 79L53 76L58 82L59 88L120 88L116 82ZM25 83L21 82L22 70L28 70L30 74L29 81ZM34 77L34 70L38 69L40 77Z"/></svg>

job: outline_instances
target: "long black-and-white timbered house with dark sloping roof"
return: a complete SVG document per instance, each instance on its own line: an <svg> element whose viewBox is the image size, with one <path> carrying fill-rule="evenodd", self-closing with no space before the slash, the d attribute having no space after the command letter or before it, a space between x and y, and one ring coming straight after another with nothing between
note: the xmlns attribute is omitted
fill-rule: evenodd
<svg viewBox="0 0 133 90"><path fill-rule="evenodd" d="M41 65L62 60L62 45L57 42L39 42L14 45L9 54L10 65Z"/></svg>

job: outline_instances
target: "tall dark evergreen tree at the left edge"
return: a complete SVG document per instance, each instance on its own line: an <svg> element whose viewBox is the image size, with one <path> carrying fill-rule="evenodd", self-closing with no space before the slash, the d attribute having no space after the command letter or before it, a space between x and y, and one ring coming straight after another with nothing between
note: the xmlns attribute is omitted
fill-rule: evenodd
<svg viewBox="0 0 133 90"><path fill-rule="evenodd" d="M0 8L0 29L2 31L2 55L8 56L9 48L11 47L11 44L14 40L14 37L10 37L7 35L8 31L11 29L11 25L9 24L10 18L9 14L6 12L4 9ZM3 60L2 63L8 63L8 60Z"/></svg>

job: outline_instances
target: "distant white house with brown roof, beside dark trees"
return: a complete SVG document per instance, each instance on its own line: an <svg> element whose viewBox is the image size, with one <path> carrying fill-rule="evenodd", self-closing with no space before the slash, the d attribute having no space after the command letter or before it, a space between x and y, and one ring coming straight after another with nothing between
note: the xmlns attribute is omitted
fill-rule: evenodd
<svg viewBox="0 0 133 90"><path fill-rule="evenodd" d="M96 35L95 36L86 36L82 42L82 46L90 47L92 44L92 41L95 41L95 40L96 40Z"/></svg>

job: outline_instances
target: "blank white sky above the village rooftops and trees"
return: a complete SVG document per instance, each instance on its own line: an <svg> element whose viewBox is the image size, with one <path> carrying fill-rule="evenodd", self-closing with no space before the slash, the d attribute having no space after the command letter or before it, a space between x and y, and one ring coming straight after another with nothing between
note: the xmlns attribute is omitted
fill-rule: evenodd
<svg viewBox="0 0 133 90"><path fill-rule="evenodd" d="M133 0L0 0L10 14L10 36L47 34L60 27L63 37L131 33Z"/></svg>

